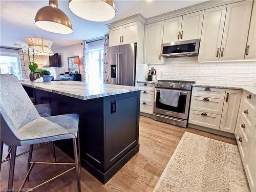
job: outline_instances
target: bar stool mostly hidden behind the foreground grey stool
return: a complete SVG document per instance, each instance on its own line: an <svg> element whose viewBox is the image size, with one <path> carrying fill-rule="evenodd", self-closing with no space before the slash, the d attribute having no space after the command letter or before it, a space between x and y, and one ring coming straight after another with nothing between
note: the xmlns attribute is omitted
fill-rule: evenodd
<svg viewBox="0 0 256 192"><path fill-rule="evenodd" d="M34 98L30 97L32 103ZM50 117L52 115L52 107L50 105L50 103L44 103L44 104L35 104L35 109L37 110L37 112L39 113L39 115L41 117ZM54 160L56 162L56 153L55 153L55 144L54 142L52 142L52 145L53 145L53 157L54 157ZM40 146L44 146L44 145L40 145ZM40 147L38 146L38 147ZM38 148L37 147L37 148ZM0 171L1 171L1 168L2 168L2 162L5 162L5 161L9 161L10 160L10 154L11 154L11 151L12 151L12 147L8 147L8 154L6 156L6 159L3 161L3 148L4 148L4 142L1 140L0 138ZM30 147L30 150L33 150L33 147ZM17 154L16 157L20 156L20 155L24 155L26 153L28 153L28 151L26 152L22 152L20 154ZM28 162L29 164L29 162Z"/></svg>

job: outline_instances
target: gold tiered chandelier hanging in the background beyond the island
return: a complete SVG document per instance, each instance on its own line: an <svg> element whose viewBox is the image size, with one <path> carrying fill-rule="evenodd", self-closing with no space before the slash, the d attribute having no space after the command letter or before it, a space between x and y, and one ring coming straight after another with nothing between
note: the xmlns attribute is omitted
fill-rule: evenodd
<svg viewBox="0 0 256 192"><path fill-rule="evenodd" d="M39 55L53 55L51 50L52 41L39 37L25 37L25 41L28 46L33 46L38 49L41 52Z"/></svg>

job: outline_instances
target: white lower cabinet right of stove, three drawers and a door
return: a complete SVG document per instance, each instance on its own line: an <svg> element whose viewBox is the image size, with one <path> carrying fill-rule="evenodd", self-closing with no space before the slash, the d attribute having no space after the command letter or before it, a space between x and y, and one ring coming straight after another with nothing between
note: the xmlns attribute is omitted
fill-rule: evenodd
<svg viewBox="0 0 256 192"><path fill-rule="evenodd" d="M193 87L188 122L234 133L242 91Z"/></svg>

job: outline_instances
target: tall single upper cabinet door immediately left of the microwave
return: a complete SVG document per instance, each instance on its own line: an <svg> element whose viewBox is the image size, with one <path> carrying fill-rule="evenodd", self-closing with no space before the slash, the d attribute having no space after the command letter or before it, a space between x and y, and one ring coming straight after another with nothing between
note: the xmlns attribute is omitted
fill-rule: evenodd
<svg viewBox="0 0 256 192"><path fill-rule="evenodd" d="M157 22L145 25L144 63L161 63L161 44L163 41L163 24Z"/></svg>

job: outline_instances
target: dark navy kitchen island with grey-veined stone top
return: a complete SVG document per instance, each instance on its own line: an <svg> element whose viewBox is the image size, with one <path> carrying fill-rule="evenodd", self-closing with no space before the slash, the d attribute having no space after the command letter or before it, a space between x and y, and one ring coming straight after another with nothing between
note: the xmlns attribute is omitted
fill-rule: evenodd
<svg viewBox="0 0 256 192"><path fill-rule="evenodd" d="M52 115L79 114L81 165L105 184L139 151L140 88L79 81L22 82ZM72 157L72 142L56 143Z"/></svg>

